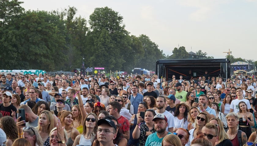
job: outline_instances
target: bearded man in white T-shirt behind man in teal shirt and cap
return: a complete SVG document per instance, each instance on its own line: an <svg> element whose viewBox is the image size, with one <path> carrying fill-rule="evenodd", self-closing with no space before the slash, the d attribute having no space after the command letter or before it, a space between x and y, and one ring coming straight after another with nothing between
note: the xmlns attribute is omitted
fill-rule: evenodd
<svg viewBox="0 0 257 146"><path fill-rule="evenodd" d="M165 108L164 108L165 103L166 103L165 96L158 96L157 99L156 99L157 110L155 110L155 113L161 113L161 114L166 115L166 117L167 117L167 119L169 121L168 122L168 126L166 127L166 131L173 132L174 117L173 117L173 115L170 112L165 110Z"/></svg>

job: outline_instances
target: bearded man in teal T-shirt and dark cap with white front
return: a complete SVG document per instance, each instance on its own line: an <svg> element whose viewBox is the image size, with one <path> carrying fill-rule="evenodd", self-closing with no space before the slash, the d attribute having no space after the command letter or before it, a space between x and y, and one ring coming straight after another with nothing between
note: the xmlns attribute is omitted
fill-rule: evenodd
<svg viewBox="0 0 257 146"><path fill-rule="evenodd" d="M155 122L155 133L149 135L146 139L145 146L160 146L162 139L171 132L166 131L168 127L168 120L164 114L158 113L155 115L153 121Z"/></svg>

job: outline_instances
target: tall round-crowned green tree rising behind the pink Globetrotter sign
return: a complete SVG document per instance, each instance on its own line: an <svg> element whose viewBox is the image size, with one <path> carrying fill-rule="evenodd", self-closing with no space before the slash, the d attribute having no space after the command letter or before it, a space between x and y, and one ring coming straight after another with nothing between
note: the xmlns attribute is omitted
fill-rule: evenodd
<svg viewBox="0 0 257 146"><path fill-rule="evenodd" d="M89 66L105 67L106 70L120 70L124 51L130 49L128 31L118 12L108 8L95 8L89 16L90 31L87 33L86 58Z"/></svg>

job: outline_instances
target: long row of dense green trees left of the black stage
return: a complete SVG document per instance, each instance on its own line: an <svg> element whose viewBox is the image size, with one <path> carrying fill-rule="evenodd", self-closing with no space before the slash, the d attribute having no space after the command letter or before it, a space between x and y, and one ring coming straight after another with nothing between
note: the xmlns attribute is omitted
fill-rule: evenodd
<svg viewBox="0 0 257 146"><path fill-rule="evenodd" d="M111 8L95 8L86 20L75 7L26 11L22 3L0 1L0 68L71 71L84 57L85 66L131 72L154 70L156 60L165 59L149 36L130 35Z"/></svg>

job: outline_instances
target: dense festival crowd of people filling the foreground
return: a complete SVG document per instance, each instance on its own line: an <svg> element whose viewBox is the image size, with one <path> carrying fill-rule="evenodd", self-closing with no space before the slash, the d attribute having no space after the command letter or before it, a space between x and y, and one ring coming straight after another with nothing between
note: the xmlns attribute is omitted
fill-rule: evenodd
<svg viewBox="0 0 257 146"><path fill-rule="evenodd" d="M256 83L207 71L189 80L3 74L0 145L255 145Z"/></svg>

